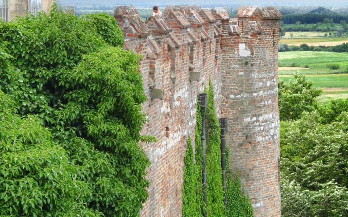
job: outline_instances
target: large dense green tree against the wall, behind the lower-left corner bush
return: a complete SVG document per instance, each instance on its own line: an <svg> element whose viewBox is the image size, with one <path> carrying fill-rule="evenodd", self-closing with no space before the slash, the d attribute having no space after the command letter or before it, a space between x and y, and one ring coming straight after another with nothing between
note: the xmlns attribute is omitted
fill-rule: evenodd
<svg viewBox="0 0 348 217"><path fill-rule="evenodd" d="M57 168L49 171L55 173L56 189L42 189L42 197L56 191L52 192L54 198L35 203L39 216L54 216L55 210L50 210L54 207L64 207L64 216L77 216L75 210L86 210L81 216L92 216L88 210L95 215L99 211L105 216L139 216L148 197L145 175L150 163L138 142L153 138L139 134L146 122L141 111L146 97L138 72L140 57L122 50L123 35L108 16L78 18L54 6L50 15L0 23L0 48L4 49L0 53L5 54L0 57L1 89L13 96L11 108L20 116L35 117L35 123L42 123L52 134L51 138L41 130L40 136L45 137L30 134L30 140L21 144L29 151L31 143L37 143L42 149L32 149L37 158L47 158L42 164L35 156L26 159L30 160L26 174L36 178L46 166ZM21 124L17 119L14 129ZM25 152L18 151L21 159ZM54 156L40 157L39 151ZM66 173L62 180L54 177L60 165ZM69 182L71 186L75 182L77 189L70 190ZM25 191L31 193L29 188Z"/></svg>

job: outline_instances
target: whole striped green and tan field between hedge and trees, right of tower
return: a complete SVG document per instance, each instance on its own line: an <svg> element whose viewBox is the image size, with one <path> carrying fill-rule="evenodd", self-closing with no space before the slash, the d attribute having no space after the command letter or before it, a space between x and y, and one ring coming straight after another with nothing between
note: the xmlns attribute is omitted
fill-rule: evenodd
<svg viewBox="0 0 348 217"><path fill-rule="evenodd" d="M299 67L289 67L295 63ZM326 68L327 64L339 64L338 70ZM304 68L307 65L308 68ZM302 67L302 68L301 68ZM323 89L317 98L319 103L330 99L348 98L348 53L291 51L279 53L278 78L284 82L293 79L293 73L306 74L317 88ZM293 68L293 69L292 69Z"/></svg>

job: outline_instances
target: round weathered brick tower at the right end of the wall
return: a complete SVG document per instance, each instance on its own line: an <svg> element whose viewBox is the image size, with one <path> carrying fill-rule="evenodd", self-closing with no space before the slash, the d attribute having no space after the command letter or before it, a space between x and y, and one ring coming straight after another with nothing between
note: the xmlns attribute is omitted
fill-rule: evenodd
<svg viewBox="0 0 348 217"><path fill-rule="evenodd" d="M228 118L230 167L239 171L256 217L280 216L280 18L274 7L248 6L236 20L222 20L221 110Z"/></svg>

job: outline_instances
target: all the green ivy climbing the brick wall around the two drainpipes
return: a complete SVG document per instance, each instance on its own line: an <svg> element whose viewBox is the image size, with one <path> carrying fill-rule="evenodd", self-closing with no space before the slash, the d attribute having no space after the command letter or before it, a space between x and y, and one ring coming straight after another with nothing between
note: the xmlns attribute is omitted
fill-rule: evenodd
<svg viewBox="0 0 348 217"><path fill-rule="evenodd" d="M206 91L205 91L206 92ZM205 204L203 202L202 169L203 150L201 144L202 119L200 105L197 103L197 125L195 139L195 156L191 140L185 156L184 184L183 184L183 217L202 217ZM217 120L214 105L214 92L212 83L209 82L208 107L206 111L206 137L207 137L207 216L226 217L253 217L253 208L249 198L242 194L240 180L237 173L229 169L228 148L226 147L227 173L227 199L228 208L223 203L224 193L222 188L221 169L221 138L220 123Z"/></svg>

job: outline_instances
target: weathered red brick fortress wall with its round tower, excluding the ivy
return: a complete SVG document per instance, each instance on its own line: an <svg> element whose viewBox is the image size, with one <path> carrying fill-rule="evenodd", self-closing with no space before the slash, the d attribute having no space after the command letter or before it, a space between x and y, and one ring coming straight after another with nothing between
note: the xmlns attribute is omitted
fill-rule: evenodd
<svg viewBox="0 0 348 217"><path fill-rule="evenodd" d="M124 48L143 57L150 121L142 133L158 139L142 144L151 184L141 216L181 216L186 140L195 138L197 94L210 78L217 116L228 118L230 166L255 216L279 217L279 11L243 7L230 19L224 8L168 6L144 23L133 6L118 6L115 18Z"/></svg>

